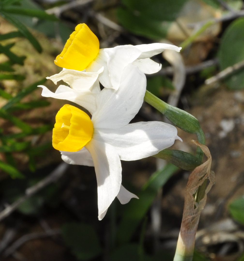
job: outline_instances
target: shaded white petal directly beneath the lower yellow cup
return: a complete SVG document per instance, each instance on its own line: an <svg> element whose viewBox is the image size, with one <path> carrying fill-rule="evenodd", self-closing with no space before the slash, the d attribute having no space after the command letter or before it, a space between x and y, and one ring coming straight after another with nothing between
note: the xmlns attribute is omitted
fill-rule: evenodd
<svg viewBox="0 0 244 261"><path fill-rule="evenodd" d="M73 165L85 165L94 167L90 152L84 147L77 152L60 151L64 162Z"/></svg>

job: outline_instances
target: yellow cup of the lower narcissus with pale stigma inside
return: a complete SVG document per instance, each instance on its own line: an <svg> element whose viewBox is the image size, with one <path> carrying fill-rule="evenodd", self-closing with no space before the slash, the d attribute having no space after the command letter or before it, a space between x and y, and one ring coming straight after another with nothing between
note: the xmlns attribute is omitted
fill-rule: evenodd
<svg viewBox="0 0 244 261"><path fill-rule="evenodd" d="M82 110L65 104L56 115L53 128L53 147L56 150L81 150L93 134L91 118Z"/></svg>

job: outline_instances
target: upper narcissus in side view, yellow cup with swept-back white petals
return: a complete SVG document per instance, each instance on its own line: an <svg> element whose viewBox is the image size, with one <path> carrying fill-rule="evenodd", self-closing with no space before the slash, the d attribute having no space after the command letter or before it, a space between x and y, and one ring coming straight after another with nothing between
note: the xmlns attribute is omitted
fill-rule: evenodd
<svg viewBox="0 0 244 261"><path fill-rule="evenodd" d="M164 43L119 45L114 48L99 49L96 35L85 24L79 24L67 40L63 51L56 57L54 63L62 68L86 72L98 72L98 79L106 88L117 90L121 76L128 64L133 64L146 74L156 73L161 64L150 57L160 54L165 49L179 52L181 48Z"/></svg>

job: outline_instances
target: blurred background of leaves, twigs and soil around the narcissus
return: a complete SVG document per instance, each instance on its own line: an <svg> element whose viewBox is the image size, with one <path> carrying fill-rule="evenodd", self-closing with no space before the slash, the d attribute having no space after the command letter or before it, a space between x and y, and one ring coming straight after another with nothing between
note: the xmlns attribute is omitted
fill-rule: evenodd
<svg viewBox="0 0 244 261"><path fill-rule="evenodd" d="M147 89L189 111L206 134L216 185L196 235L194 260L244 260L244 5L241 0L0 0L1 260L172 260L189 176L155 158L123 162L140 200L113 202L97 220L93 168L67 166L51 147L56 112L37 85L78 23L101 48L171 42ZM177 54L178 55L178 54ZM178 60L177 60L178 59ZM175 61L175 62L174 62ZM144 104L135 121L165 120ZM194 135L174 149L193 153Z"/></svg>

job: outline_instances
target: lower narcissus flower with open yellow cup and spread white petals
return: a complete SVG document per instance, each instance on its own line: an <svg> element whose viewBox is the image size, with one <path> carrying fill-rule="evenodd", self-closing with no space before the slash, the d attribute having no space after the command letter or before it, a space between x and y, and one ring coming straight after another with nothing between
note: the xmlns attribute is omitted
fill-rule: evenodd
<svg viewBox="0 0 244 261"><path fill-rule="evenodd" d="M119 89L104 88L96 95L90 118L84 111L64 105L56 115L53 146L69 164L94 166L97 178L98 219L115 197L122 204L136 195L121 186L121 162L155 155L173 145L177 129L163 122L129 123L142 106L146 77L128 65Z"/></svg>

